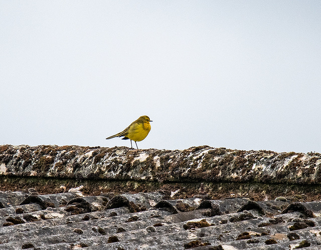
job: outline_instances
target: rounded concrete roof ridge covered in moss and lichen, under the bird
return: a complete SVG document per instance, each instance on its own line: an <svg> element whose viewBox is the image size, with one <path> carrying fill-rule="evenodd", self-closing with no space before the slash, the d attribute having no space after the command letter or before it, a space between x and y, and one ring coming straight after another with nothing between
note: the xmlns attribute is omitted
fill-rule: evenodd
<svg viewBox="0 0 321 250"><path fill-rule="evenodd" d="M321 154L40 145L0 146L0 175L155 182L320 184Z"/></svg>

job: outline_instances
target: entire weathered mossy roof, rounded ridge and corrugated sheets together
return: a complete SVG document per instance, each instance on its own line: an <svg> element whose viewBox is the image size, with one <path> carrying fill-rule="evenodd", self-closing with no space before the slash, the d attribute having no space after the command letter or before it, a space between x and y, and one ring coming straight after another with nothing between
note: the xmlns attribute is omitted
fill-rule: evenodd
<svg viewBox="0 0 321 250"><path fill-rule="evenodd" d="M1 145L0 250L321 249L320 184L312 152Z"/></svg>

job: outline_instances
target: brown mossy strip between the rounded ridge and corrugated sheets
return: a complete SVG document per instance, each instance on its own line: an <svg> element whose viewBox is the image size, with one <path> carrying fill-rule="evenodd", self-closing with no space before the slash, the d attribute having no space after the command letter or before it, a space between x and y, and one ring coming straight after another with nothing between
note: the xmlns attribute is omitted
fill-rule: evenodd
<svg viewBox="0 0 321 250"><path fill-rule="evenodd" d="M71 175L72 177L72 175ZM169 182L169 181L134 181L134 180L103 180L103 179L68 179L58 177L14 177L0 176L0 190L22 190L27 191L29 188L37 187L40 194L60 193L64 189L60 186L69 188L83 185L84 194L100 195L102 193L112 193L112 195L120 193L138 193L138 192L154 192L160 191L165 195L164 199L180 199L190 198L198 194L206 193L211 199L223 199L230 197L231 193L236 196L248 197L251 200L275 199L282 195L288 199L292 199L296 194L301 194L304 190L306 196L302 196L304 201L321 200L320 185L292 185L292 184L262 184L257 182L239 183L239 182ZM185 187L185 189L183 189ZM201 188L202 187L202 188ZM175 190L184 190L178 192L175 197L170 197L171 192ZM299 207L295 206L300 210ZM295 207L289 207L289 210L295 210ZM272 208L272 207L271 207ZM285 204L281 205L281 209L285 209ZM139 208L138 208L139 209ZM302 207L304 209L304 207ZM301 210L302 210L301 209ZM303 210L302 210L303 211ZM286 211L285 211L286 212ZM304 211L303 211L304 212ZM311 214L309 210L305 211L307 216Z"/></svg>

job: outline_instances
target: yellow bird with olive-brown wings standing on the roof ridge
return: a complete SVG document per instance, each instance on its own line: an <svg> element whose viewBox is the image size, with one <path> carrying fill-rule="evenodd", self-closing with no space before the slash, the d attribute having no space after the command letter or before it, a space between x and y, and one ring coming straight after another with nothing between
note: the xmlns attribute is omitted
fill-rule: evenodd
<svg viewBox="0 0 321 250"><path fill-rule="evenodd" d="M146 138L150 131L150 123L152 122L148 116L143 115L140 116L136 121L133 121L127 128L124 129L124 131L119 132L118 134L109 136L106 138L111 139L115 137L124 137L122 140L130 140L130 146L132 148L131 141L133 140L135 143L136 141L142 141ZM138 149L137 143L136 147Z"/></svg>

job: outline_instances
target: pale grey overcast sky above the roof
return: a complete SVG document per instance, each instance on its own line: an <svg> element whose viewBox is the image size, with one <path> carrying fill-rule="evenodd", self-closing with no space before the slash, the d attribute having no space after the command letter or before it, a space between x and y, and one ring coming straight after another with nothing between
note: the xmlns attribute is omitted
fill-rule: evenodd
<svg viewBox="0 0 321 250"><path fill-rule="evenodd" d="M1 1L0 144L321 152L321 2Z"/></svg>

